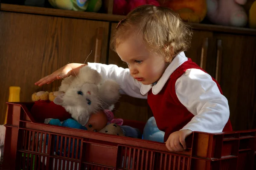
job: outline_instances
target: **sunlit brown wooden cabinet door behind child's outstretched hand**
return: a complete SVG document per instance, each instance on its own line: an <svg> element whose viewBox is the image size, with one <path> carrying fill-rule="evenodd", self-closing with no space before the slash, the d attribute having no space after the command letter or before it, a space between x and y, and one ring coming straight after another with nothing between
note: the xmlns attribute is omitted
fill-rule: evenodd
<svg viewBox="0 0 256 170"><path fill-rule="evenodd" d="M0 123L9 86L20 86L20 101L36 91L56 91L61 81L34 83L69 62L106 62L109 22L0 12Z"/></svg>

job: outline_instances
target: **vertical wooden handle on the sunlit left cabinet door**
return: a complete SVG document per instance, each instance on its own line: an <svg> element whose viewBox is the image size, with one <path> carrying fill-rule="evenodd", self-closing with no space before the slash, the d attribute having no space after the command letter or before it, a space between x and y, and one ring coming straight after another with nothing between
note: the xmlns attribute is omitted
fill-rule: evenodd
<svg viewBox="0 0 256 170"><path fill-rule="evenodd" d="M94 62L97 62L97 63L100 62L100 58L101 58L102 38L103 38L103 28L99 27L97 30L95 53L94 53Z"/></svg>

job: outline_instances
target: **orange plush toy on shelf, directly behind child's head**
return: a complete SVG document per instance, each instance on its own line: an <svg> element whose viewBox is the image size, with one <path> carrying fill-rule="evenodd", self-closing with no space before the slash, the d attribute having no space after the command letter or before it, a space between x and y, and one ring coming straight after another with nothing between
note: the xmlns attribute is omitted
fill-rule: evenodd
<svg viewBox="0 0 256 170"><path fill-rule="evenodd" d="M206 0L160 0L163 6L171 8L184 21L200 23L207 14Z"/></svg>

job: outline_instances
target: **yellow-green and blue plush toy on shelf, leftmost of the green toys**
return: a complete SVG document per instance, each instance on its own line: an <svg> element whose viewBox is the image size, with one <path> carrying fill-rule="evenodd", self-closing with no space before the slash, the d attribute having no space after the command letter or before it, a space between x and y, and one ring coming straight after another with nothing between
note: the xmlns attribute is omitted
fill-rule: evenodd
<svg viewBox="0 0 256 170"><path fill-rule="evenodd" d="M85 11L87 9L88 0L48 0L54 8Z"/></svg>

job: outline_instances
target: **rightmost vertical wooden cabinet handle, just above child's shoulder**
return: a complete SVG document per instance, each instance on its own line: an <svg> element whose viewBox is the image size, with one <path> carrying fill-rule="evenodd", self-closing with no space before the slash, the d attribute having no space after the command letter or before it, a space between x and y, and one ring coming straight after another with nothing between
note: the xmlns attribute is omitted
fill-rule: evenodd
<svg viewBox="0 0 256 170"><path fill-rule="evenodd" d="M222 64L222 41L217 40L217 61L216 61L215 79L218 83L220 83L220 80L221 80L221 64Z"/></svg>

